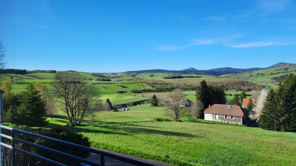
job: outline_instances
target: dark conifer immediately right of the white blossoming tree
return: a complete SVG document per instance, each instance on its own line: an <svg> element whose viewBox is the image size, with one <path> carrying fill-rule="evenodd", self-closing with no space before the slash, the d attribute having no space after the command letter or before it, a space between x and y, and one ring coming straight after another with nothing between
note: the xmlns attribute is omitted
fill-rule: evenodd
<svg viewBox="0 0 296 166"><path fill-rule="evenodd" d="M260 115L260 127L265 130L275 130L278 124L275 122L275 91L274 89L269 89L266 102L263 107L263 113Z"/></svg>

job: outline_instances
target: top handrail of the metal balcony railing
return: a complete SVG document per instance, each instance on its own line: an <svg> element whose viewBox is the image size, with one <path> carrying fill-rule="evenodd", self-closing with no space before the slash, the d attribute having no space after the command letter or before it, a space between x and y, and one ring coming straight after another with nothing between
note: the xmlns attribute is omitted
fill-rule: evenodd
<svg viewBox="0 0 296 166"><path fill-rule="evenodd" d="M59 143L59 144L68 145L70 147L75 147L77 149L85 150L85 151L88 151L88 152L91 152L91 153L95 153L95 154L99 154L99 155L104 155L105 157L109 157L109 158L112 158L112 159L115 159L115 160L119 160L119 161L123 161L123 162L126 162L126 163L130 163L130 164L133 164L133 165L154 166L154 165L151 165L151 164L148 164L148 163L145 163L145 162L140 162L140 161L133 160L133 159L126 158L126 157L122 157L122 156L119 156L119 155L116 155L116 154L104 152L104 151L101 151L101 150L98 150L98 149L84 147L82 145L73 144L73 143L70 143L70 142L66 142L66 141L62 141L62 140L59 140L59 139L50 138L50 137L47 137L47 136L42 136L42 135L39 135L39 134L31 133L31 132L28 132L28 131L23 131L23 130L16 129L16 128L11 128L11 127L7 127L7 126L3 126L3 125L0 125L0 128L5 128L5 129L8 129L8 130L13 130L13 131L16 131L18 133L27 134L29 136L34 136L34 137L37 137L37 138L40 138L40 139L44 139L44 140L47 140L47 141L52 141L52 142L56 142L56 143Z"/></svg>

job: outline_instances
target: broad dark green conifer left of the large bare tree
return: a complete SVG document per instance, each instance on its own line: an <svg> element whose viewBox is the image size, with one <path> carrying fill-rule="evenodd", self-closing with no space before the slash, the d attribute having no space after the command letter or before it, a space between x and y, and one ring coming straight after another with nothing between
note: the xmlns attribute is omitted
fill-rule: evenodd
<svg viewBox="0 0 296 166"><path fill-rule="evenodd" d="M45 100L42 99L42 95L36 89L35 84L28 84L26 91L21 92L20 106L17 107L17 123L27 126L46 126L46 109Z"/></svg>

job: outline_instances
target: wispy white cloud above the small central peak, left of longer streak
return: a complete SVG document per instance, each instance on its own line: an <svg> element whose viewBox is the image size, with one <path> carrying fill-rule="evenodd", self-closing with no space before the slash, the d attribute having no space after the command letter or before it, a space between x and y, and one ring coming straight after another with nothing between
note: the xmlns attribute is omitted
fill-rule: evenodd
<svg viewBox="0 0 296 166"><path fill-rule="evenodd" d="M212 39L194 39L192 42L182 45L182 46L174 46L174 45L163 45L160 47L155 48L154 50L160 50L160 51L172 51L172 50L182 50L184 48L192 47L194 45L210 45L214 44L215 40Z"/></svg>

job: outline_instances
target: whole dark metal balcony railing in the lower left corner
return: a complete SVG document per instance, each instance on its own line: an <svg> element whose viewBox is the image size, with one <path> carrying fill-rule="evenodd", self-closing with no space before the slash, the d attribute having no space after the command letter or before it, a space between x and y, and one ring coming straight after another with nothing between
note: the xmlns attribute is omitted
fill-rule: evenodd
<svg viewBox="0 0 296 166"><path fill-rule="evenodd" d="M37 154L33 154L31 152L28 152L28 151L26 151L24 149L21 149L21 147L16 147L16 142L20 142L22 144L26 144L28 146L35 147L37 149L41 149L43 151L51 152L52 154L57 154L57 155L60 155L60 156L63 156L63 157L67 157L67 158L69 158L71 160L75 160L77 162L84 163L84 164L91 165L91 166L101 166L101 165L104 166L105 165L105 157L109 157L109 158L112 158L112 159L115 159L115 160L119 160L119 161L122 161L122 162L125 162L125 163L138 165L138 166L153 166L153 165L148 164L148 163L140 162L140 161L137 161L137 160L126 158L126 157L122 157L122 156L119 156L119 155L116 155L116 154L104 152L104 151L97 150L97 149L92 149L92 148L89 148L89 147L84 147L84 146L81 146L81 145L73 144L73 143L66 142L66 141L61 141L61 140L58 140L58 139L50 138L50 137L47 137L47 136L42 136L42 135L31 133L31 132L28 132L28 131L19 130L19 129L16 129L16 128L11 128L11 127L7 127L7 126L3 126L3 125L0 125L0 128L1 128L1 130L6 129L6 130L11 131L11 136L5 135L5 134L2 134L2 133L0 134L1 140L2 140L2 138L6 138L6 139L11 140L11 145L6 144L6 143L4 143L2 141L0 143L1 147L2 147L2 149L1 149L1 159L2 159L2 161L0 161L1 162L0 166L1 165L2 166L31 166L31 165L36 166L37 165L37 160L38 160L38 165L42 165L42 166L46 166L48 164L65 166L65 165L63 165L63 164L61 164L59 162L54 161L54 160L49 160L49 159L47 159L45 157L42 157L42 156L39 156ZM100 157L100 163L92 162L92 161L82 159L82 158L79 158L79 157L76 157L76 156L73 156L73 155L70 155L70 154L66 154L64 152L60 152L60 151L50 149L50 148L47 148L47 147L44 147L44 146L41 146L41 145L38 145L38 144L34 144L34 143L28 142L26 140L22 140L22 139L16 137L16 133L26 134L28 136L32 136L32 137L35 137L35 138L43 139L43 140L46 140L46 141L50 141L50 142L54 142L54 143L58 143L58 144L62 144L62 145L67 145L68 147L74 147L74 148L77 148L77 149L84 150L86 152L91 152L91 153L94 153L94 154L98 154L98 157ZM30 161L27 160L28 157L30 157ZM20 160L20 159L22 159L22 160Z"/></svg>

